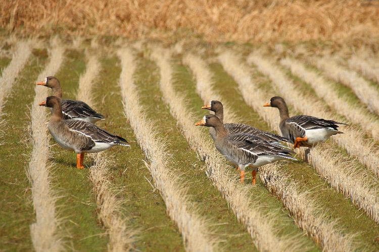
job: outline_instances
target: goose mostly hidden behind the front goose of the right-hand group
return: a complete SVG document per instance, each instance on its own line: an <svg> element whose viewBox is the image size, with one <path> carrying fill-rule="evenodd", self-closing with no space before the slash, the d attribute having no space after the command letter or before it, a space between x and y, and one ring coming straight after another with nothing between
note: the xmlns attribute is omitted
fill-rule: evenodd
<svg viewBox="0 0 379 252"><path fill-rule="evenodd" d="M207 109L210 111L213 111L215 113L215 116L223 123L224 119L224 108L222 106L222 103L218 100L212 100L208 105L203 106L202 109ZM248 133L253 134L256 136L259 136L263 140L269 141L269 142L279 142L279 141L286 141L288 142L288 139L286 137L278 136L273 133L254 128L250 125L246 125L243 123L224 123L225 130L229 133ZM214 128L209 129L209 133L213 140L216 139L216 131Z"/></svg>

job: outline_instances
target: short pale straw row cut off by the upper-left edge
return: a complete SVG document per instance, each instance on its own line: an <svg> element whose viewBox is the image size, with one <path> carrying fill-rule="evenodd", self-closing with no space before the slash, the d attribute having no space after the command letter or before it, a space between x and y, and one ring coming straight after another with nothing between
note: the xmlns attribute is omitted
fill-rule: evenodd
<svg viewBox="0 0 379 252"><path fill-rule="evenodd" d="M0 78L0 118L3 115L3 108L9 92L12 89L13 82L17 75L25 66L32 52L32 41L19 41L15 45L15 53L13 54L12 61L3 69L2 77Z"/></svg>

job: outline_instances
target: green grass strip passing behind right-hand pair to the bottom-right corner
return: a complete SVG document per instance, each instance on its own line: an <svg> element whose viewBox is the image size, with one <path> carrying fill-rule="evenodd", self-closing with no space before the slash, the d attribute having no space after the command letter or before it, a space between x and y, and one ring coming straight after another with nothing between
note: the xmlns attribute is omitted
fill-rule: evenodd
<svg viewBox="0 0 379 252"><path fill-rule="evenodd" d="M211 65L211 68L215 73L214 75L217 76L217 90L221 93L222 97L225 98L225 102L232 106L233 111L242 118L254 118L253 124L249 122L245 123L264 130L267 129L268 125L265 125L263 120L255 119L258 115L245 103L241 102L241 94L235 91L237 84L221 70L220 66L216 67L215 65ZM255 76L253 77L255 78ZM259 78L260 76L257 76L257 79ZM275 90L272 91L272 96L277 94ZM267 100L269 100L270 97L268 97ZM290 114L294 114L291 108ZM356 207L352 205L350 199L345 198L341 193L337 193L335 189L330 188L327 182L315 174L316 172L307 163L301 161L299 157L297 158L298 161L287 163L282 166L282 169L288 174L293 174L291 178L301 185L299 191L317 188L313 196L317 198L319 205L323 206L322 212L326 214L326 217L339 219L339 227L349 233L357 233L357 240L366 244L366 249L377 250L379 246L373 242L375 237L379 235L379 227L377 224L367 217L363 211L358 211ZM261 185L258 179L257 183ZM357 230L359 230L359 232L357 232Z"/></svg>

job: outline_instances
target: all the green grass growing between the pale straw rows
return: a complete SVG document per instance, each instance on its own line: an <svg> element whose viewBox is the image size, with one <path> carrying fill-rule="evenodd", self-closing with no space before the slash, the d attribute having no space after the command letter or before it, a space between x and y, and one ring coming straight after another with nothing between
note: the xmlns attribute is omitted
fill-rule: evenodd
<svg viewBox="0 0 379 252"><path fill-rule="evenodd" d="M84 46L88 46L83 44ZM107 46L111 44L107 43ZM206 44L202 45L206 47ZM210 46L211 47L211 46ZM213 48L207 52L207 57L213 57ZM245 55L251 50L245 46ZM65 53L65 61L56 74L63 88L64 98L74 99L78 88L79 76L85 71L84 51L69 49ZM31 201L31 184L26 177L25 168L28 166L32 150L30 125L30 106L34 99L36 77L48 60L46 49L35 49L29 63L15 81L11 96L4 107L6 113L2 119L4 135L0 137L0 247L10 251L30 251L30 224L35 221ZM166 206L159 192L150 183L151 175L143 160L146 160L140 150L133 130L123 113L123 106L118 85L121 69L118 59L104 53L100 57L102 70L99 79L93 87L94 108L105 115L106 120L98 123L102 128L126 138L131 147L116 146L105 152L112 160L109 180L117 191L117 197L122 203L122 215L129 218L128 225L139 230L134 243L141 251L184 251L181 234L175 223L166 214ZM178 183L188 188L188 198L198 210L199 215L205 216L214 226L213 233L222 240L221 248L241 251L255 251L253 240L229 210L226 200L212 185L204 171L204 163L197 158L196 153L189 147L181 134L180 127L171 116L168 106L162 99L159 89L159 71L154 62L138 55L139 66L136 72L136 85L140 93L139 103L146 109L148 119L153 120L157 132L167 140L167 151L170 156L172 172L180 176ZM11 59L0 58L0 69L4 69ZM195 89L195 79L188 69L180 64L180 58L174 59L174 86L176 91L187 101L189 112L193 112L200 120L208 111L201 110L205 103L200 99ZM215 89L227 102L233 112L239 115L242 123L253 125L263 130L270 130L268 125L248 107L233 79L228 76L219 64L210 64L215 76ZM297 86L307 95L314 96L314 90L300 79L289 75ZM270 81L254 74L254 80L265 91L277 95ZM354 93L341 84L334 84L340 95L346 96L349 102L362 106ZM45 88L38 86L38 88ZM51 91L49 91L51 93ZM267 101L271 96L267 97ZM42 102L42 101L41 101ZM85 102L85 100L84 100ZM221 100L222 102L222 100ZM231 108L225 108L231 109ZM268 108L270 109L270 108ZM46 112L48 110L46 109ZM294 113L294 111L291 111ZM196 121L194 121L195 123ZM194 126L195 127L195 126ZM204 134L209 135L208 128L202 127ZM337 136L338 137L338 136ZM76 169L76 155L58 146L51 140L52 188L61 196L58 200L57 212L62 218L61 230L65 235L67 250L104 251L109 242L108 235L98 219L98 208L92 192L93 185L89 180L90 161L85 155L85 169ZM336 153L349 158L346 152L336 147ZM351 158L349 158L351 162ZM357 240L365 245L364 250L379 250L375 238L379 236L379 226L368 218L361 210L351 204L350 199L330 188L323 178L303 161L283 163L283 171L290 174L290 179L300 184L299 191L314 189L312 196L316 197L322 206L322 212L327 219L338 219L338 227L348 233L357 233ZM363 169L357 164L357 169ZM251 183L251 173L247 173L245 183ZM239 172L235 170L235 179ZM321 247L310 237L303 235L289 217L289 212L281 201L270 194L259 177L257 185L248 187L246 194L256 199L257 206L263 206L267 213L273 213L278 221L275 223L279 235L297 235L297 240L304 242L312 251Z"/></svg>

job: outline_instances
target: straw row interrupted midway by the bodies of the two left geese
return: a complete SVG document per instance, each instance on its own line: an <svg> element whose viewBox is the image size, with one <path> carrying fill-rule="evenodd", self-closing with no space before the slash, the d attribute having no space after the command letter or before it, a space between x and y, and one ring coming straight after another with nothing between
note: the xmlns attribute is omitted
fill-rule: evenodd
<svg viewBox="0 0 379 252"><path fill-rule="evenodd" d="M96 55L89 56L86 71L79 78L77 99L93 107L92 87L97 78L101 64ZM104 153L92 154L94 165L89 169L89 179L93 183L93 191L98 206L98 218L109 234L109 251L129 251L133 248L136 231L128 227L127 220L122 217L122 200L117 198L109 181L109 166L112 163Z"/></svg>

